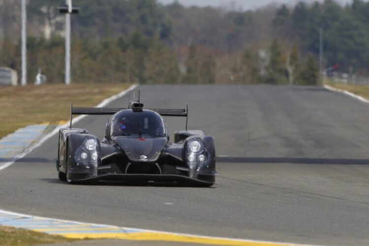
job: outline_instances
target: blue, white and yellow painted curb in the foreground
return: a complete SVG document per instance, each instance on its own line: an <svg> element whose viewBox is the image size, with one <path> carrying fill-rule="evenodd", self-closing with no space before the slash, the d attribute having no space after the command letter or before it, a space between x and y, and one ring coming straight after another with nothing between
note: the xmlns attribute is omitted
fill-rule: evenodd
<svg viewBox="0 0 369 246"><path fill-rule="evenodd" d="M82 223L71 220L24 215L0 210L0 224L29 229L71 239L121 239L132 241L162 241L205 245L233 246L301 246L299 244L277 243L245 239L208 237L183 233L170 233L119 227L105 224Z"/></svg>

